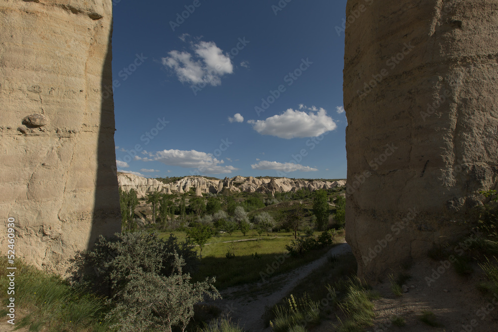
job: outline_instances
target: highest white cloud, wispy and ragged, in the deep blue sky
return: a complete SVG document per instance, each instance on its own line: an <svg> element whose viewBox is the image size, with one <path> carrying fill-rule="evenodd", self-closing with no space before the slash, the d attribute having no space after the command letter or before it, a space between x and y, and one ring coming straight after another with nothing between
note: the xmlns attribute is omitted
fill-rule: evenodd
<svg viewBox="0 0 498 332"><path fill-rule="evenodd" d="M186 35L180 39L184 40ZM208 84L217 86L221 84L221 77L232 74L234 66L230 57L212 41L191 42L194 51L189 52L170 51L168 57L162 58L162 64L173 70L182 83Z"/></svg>

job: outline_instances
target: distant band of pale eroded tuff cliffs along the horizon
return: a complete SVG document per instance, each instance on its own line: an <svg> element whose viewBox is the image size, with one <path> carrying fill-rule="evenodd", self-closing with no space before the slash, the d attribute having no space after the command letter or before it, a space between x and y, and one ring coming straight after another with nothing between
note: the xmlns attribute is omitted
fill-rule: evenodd
<svg viewBox="0 0 498 332"><path fill-rule="evenodd" d="M337 186L344 186L346 184L346 181L344 180L335 182L308 182L304 180L292 180L287 178L256 179L253 177L244 178L242 176L236 176L232 179L225 178L223 180L212 180L199 176L186 176L174 183L164 184L156 179L146 179L134 174L121 172L118 172L118 182L120 187L125 191L134 189L139 198L146 196L149 192L159 192L165 194L177 192L179 194L184 194L188 192L190 188L195 188L196 196L202 196L202 194L207 193L221 193L225 188L228 188L233 192L275 193L295 192L296 190L302 188L315 191L318 189L330 189Z"/></svg>

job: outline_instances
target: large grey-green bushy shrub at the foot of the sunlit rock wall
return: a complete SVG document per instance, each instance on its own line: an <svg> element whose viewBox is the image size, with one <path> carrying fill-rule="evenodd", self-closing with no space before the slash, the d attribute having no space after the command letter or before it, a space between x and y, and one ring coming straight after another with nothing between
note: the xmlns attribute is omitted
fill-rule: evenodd
<svg viewBox="0 0 498 332"><path fill-rule="evenodd" d="M205 295L219 297L214 279L190 283L196 261L192 244L173 235L162 240L145 231L117 233L78 254L71 280L108 296L113 328L170 331L188 324Z"/></svg>

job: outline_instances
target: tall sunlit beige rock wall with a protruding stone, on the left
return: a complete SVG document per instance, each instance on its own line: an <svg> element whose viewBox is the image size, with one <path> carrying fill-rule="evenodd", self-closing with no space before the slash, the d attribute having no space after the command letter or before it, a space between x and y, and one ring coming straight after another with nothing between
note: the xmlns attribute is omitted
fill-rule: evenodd
<svg viewBox="0 0 498 332"><path fill-rule="evenodd" d="M0 250L64 273L120 231L111 0L0 2ZM107 89L106 89L107 88Z"/></svg>

